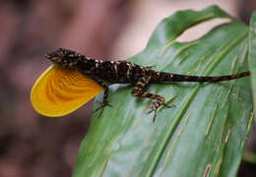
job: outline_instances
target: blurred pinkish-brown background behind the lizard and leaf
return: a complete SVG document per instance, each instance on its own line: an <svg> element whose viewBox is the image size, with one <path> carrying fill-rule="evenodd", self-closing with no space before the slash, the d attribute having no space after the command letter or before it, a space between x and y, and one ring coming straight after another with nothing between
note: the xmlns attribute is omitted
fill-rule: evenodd
<svg viewBox="0 0 256 177"><path fill-rule="evenodd" d="M0 1L0 176L71 176L89 128L92 104L62 118L32 109L32 84L50 65L44 53L66 47L93 58L126 59L145 47L164 17L212 4L245 23L256 9L254 0ZM250 152L256 152L255 134L253 128ZM239 176L255 174L254 164L242 163Z"/></svg>

